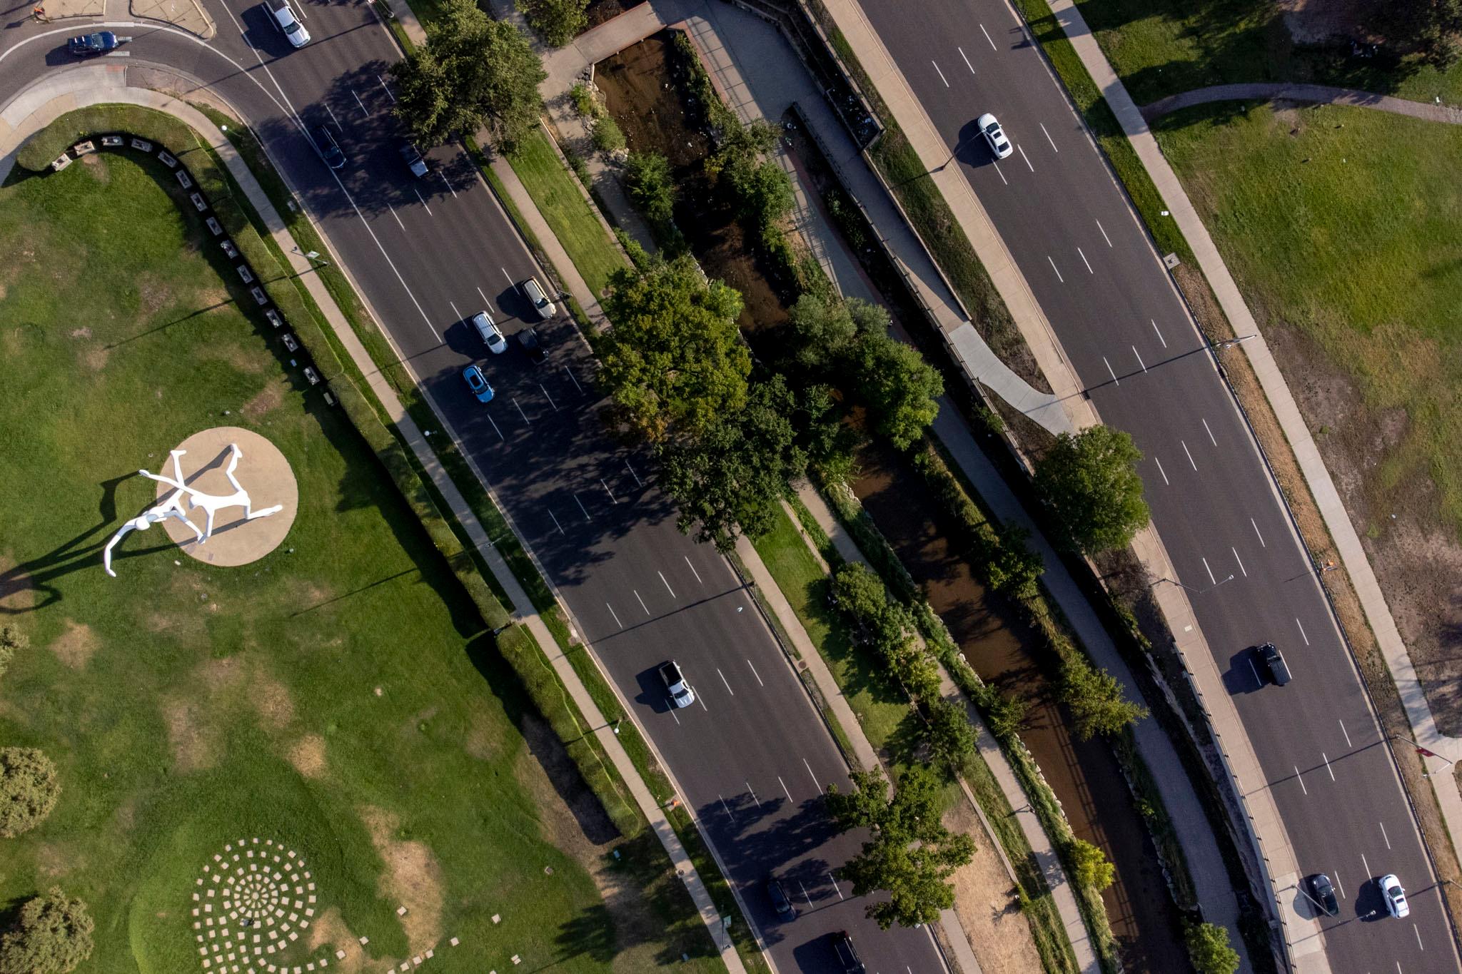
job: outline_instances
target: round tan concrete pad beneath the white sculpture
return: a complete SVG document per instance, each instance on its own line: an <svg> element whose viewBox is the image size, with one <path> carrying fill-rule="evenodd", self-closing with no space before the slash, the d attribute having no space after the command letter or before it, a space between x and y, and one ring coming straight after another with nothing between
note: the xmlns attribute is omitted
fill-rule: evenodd
<svg viewBox="0 0 1462 974"><path fill-rule="evenodd" d="M241 456L234 476L249 492L251 508L263 511L279 504L284 510L246 521L243 507L221 508L213 518L213 536L202 545L187 524L174 518L162 521L168 537L177 542L184 553L209 565L247 565L259 561L278 548L289 533L300 505L300 486L294 480L289 461L276 445L240 426L215 426L196 432L178 444L178 450L187 450L187 454L180 457L183 482L203 494L232 494L234 485L224 476L232 456L231 444L238 444ZM152 473L174 476L173 457L165 457L161 469ZM158 483L159 501L171 492L171 486ZM187 518L197 524L200 532L206 532L208 513L187 501L184 508Z"/></svg>

